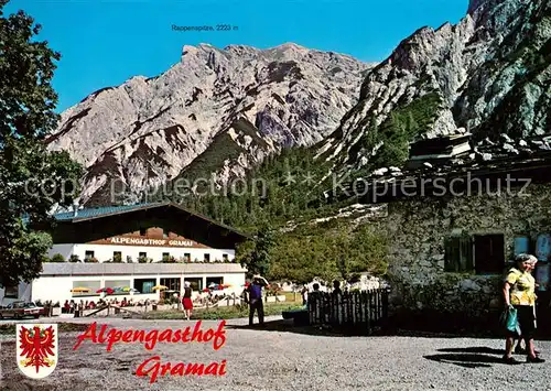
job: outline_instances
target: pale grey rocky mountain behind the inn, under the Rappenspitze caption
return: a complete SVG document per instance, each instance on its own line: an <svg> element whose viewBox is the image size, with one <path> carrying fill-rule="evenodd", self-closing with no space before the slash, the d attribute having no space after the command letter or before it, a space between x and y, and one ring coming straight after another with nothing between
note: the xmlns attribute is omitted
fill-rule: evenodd
<svg viewBox="0 0 551 391"><path fill-rule="evenodd" d="M164 74L100 89L63 112L48 148L86 167L88 205L112 203L114 189L133 203L177 177L214 173L219 185L283 146L323 140L356 102L369 67L292 43L185 45Z"/></svg>

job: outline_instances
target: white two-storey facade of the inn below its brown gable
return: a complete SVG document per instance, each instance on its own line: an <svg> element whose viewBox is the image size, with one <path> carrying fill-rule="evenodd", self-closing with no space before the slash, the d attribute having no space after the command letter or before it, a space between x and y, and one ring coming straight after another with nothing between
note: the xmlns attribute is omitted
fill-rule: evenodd
<svg viewBox="0 0 551 391"><path fill-rule="evenodd" d="M98 263L84 262L87 251L93 251L93 257L98 260ZM114 252L117 251L121 253L122 263L104 263L112 260ZM145 253L145 257L152 262L138 263L140 253ZM191 262L162 263L160 261L164 253L169 253L169 257L174 257L176 260L188 257ZM180 280L180 290L183 289L185 280L199 282L202 289L207 286L208 281L220 281L233 286L245 284L246 270L239 264L228 263L235 261L234 249L58 243L48 251L48 257L54 254L62 254L65 262L44 263L43 276L30 284L20 283L17 297L13 295L13 291L12 295L6 296L6 290L0 289L0 305L8 305L14 301L39 300L60 302L62 305L66 300L97 302L104 297L96 293L102 287L130 286L137 289L137 283L144 280L154 281L153 285L161 285L164 279L173 279L173 281L176 279ZM205 254L209 254L208 262L205 261ZM80 262L68 262L71 256L77 256ZM131 264L127 263L127 257L132 258ZM224 261L224 263L216 261ZM104 269L98 269L102 265L110 267L112 270L106 272ZM138 273L134 272L134 267L139 268ZM77 269L75 270L75 268ZM89 287L90 294L74 294L71 292L74 287ZM138 290L140 291L139 287ZM123 297L133 301L158 300L159 292L108 296L108 298L115 297L119 301Z"/></svg>

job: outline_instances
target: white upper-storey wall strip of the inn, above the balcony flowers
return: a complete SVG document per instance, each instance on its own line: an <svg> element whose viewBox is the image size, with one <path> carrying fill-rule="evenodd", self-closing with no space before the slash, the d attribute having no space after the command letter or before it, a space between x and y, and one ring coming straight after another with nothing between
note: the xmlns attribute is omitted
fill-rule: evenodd
<svg viewBox="0 0 551 391"><path fill-rule="evenodd" d="M132 258L132 262L138 262L140 253L145 253L145 257L151 258L153 262L159 262L163 259L164 253L169 257L181 259L190 257L191 261L203 262L205 254L209 256L209 261L225 260L233 261L235 258L235 250L233 249L212 249L212 248L187 248L187 247L158 247L158 246L123 246L123 245L54 245L48 251L48 257L56 253L62 254L65 260L71 256L77 256L80 260L86 258L86 252L93 251L98 262L105 262L109 259L112 260L114 252L120 252L122 262L126 262L127 257Z"/></svg>

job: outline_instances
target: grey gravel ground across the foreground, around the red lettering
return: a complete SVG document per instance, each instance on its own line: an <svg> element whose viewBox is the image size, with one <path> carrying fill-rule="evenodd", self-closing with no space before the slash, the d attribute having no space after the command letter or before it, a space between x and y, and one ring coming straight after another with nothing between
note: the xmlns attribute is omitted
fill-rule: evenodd
<svg viewBox="0 0 551 391"><path fill-rule="evenodd" d="M316 336L298 333L301 330L280 319L269 317L267 321L277 322L270 322L266 329L242 327L247 319L227 321L226 345L218 351L212 344L197 343L159 343L148 351L137 343L118 344L107 352L105 345L90 341L74 351L78 333L62 334L60 362L42 380L21 374L14 359L14 337L3 336L0 390L551 390L551 360L512 367L500 363L504 343L499 339ZM195 325L179 321L97 322L121 330ZM218 323L205 321L203 325L216 328ZM551 341L538 341L537 347L543 358L551 358ZM154 355L174 363L227 360L227 374L165 376L150 384L149 378L134 372Z"/></svg>

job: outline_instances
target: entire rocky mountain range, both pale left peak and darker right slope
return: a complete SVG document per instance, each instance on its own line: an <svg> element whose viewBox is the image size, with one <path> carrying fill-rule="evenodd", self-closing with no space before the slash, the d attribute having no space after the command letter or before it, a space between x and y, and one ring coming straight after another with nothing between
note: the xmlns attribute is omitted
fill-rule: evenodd
<svg viewBox="0 0 551 391"><path fill-rule="evenodd" d="M212 173L219 186L290 145L365 175L400 166L410 141L469 132L480 148L466 161L488 160L483 140L522 146L550 130L550 2L472 0L460 23L419 29L377 66L295 44L184 46L163 75L64 112L50 145L85 164L93 204L109 203L114 182L127 203Z"/></svg>

